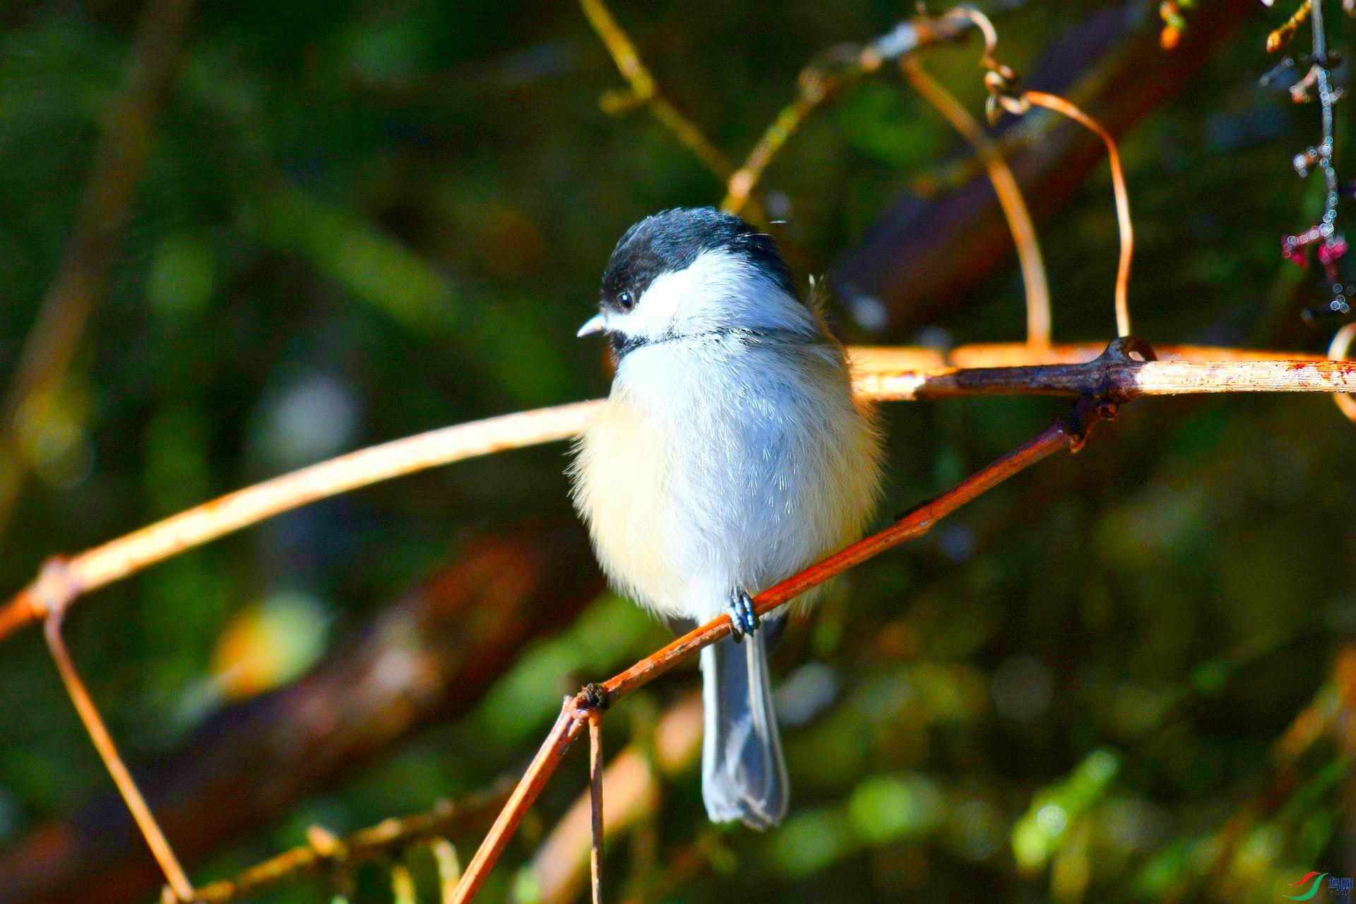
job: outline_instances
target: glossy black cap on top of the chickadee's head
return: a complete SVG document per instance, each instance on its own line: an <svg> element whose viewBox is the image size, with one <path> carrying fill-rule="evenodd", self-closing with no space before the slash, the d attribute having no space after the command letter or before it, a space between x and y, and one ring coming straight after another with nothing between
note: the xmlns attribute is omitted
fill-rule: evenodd
<svg viewBox="0 0 1356 904"><path fill-rule="evenodd" d="M621 293L640 298L656 276L686 270L704 251L725 251L749 262L792 298L791 268L772 236L715 207L674 207L645 217L625 232L607 260L599 302L621 310Z"/></svg>

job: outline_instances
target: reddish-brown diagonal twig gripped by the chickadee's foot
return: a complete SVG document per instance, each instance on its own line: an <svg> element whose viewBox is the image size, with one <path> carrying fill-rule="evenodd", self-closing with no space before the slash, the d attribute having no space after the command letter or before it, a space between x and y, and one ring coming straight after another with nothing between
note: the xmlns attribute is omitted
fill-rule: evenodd
<svg viewBox="0 0 1356 904"><path fill-rule="evenodd" d="M1111 354L1111 352L1108 352ZM1088 436L1088 431L1102 419L1112 417L1115 407L1111 404L1079 401L1074 417L1059 420L1052 427L1028 440L1022 446L1003 455L983 470L972 474L937 499L918 506L913 511L902 515L894 525L852 546L848 546L823 561L788 577L786 580L769 587L754 596L754 611L766 615L769 611L786 604L811 587L835 577L854 565L879 556L880 553L898 546L910 539L917 539L951 512L956 511L976 496L993 489L1013 474L1017 474L1031 465L1048 458L1060 449L1077 450ZM504 805L503 812L495 821L476 851L466 871L457 886L454 904L471 901L484 884L499 855L503 852L513 836L514 829L542 786L551 778L556 766L560 764L565 751L583 731L584 724L597 714L599 709L610 705L616 699L643 687L667 672L674 665L683 663L709 644L713 644L730 634L730 619L724 615L715 618L701 628L697 628L663 649L647 656L626 671L614 675L602 684L590 684L576 697L567 697L560 710L556 725L546 736L545 743L533 759L527 773L519 781L518 787Z"/></svg>

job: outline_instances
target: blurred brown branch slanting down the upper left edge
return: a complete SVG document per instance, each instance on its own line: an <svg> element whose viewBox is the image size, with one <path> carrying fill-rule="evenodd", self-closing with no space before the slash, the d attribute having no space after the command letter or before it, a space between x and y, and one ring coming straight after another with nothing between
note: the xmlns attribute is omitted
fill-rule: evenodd
<svg viewBox="0 0 1356 904"><path fill-rule="evenodd" d="M195 0L151 0L141 14L126 87L107 112L61 267L0 404L0 531L19 497L27 465L19 422L41 423L50 412L89 312L103 294L114 247L151 156L156 117L179 70L194 7Z"/></svg>

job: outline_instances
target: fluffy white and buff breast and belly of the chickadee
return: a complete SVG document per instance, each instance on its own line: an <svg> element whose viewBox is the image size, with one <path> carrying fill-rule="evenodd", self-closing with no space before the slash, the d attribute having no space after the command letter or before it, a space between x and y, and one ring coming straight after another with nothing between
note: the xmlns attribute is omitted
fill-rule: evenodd
<svg viewBox="0 0 1356 904"><path fill-rule="evenodd" d="M648 369L618 375L575 464L576 503L618 588L705 619L734 587L757 592L860 534L877 440L841 359L765 356L713 393L705 371L685 378L641 354Z"/></svg>

